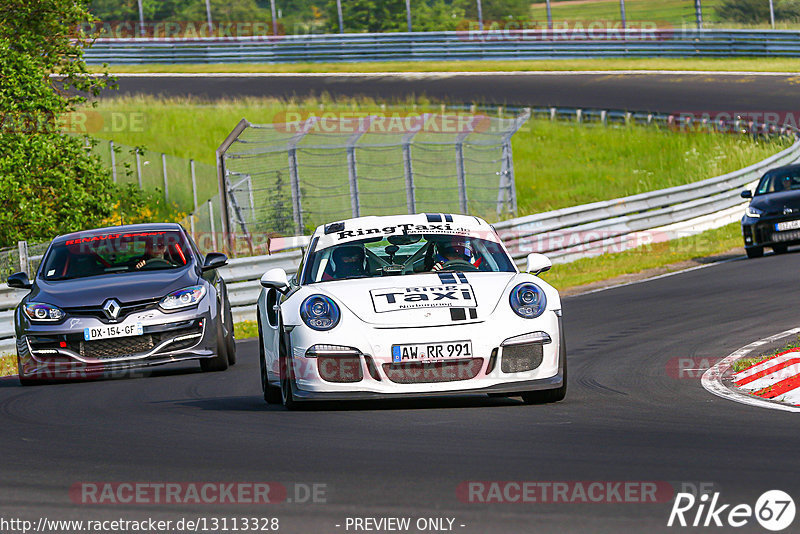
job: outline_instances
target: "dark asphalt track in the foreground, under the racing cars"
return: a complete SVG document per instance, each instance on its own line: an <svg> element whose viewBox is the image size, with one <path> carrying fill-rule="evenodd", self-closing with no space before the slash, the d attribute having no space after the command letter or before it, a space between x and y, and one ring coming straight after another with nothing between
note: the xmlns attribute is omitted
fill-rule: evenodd
<svg viewBox="0 0 800 534"><path fill-rule="evenodd" d="M712 396L699 374L668 369L676 357L720 358L796 327L799 272L800 253L767 255L566 298L569 393L553 405L476 396L287 412L261 399L252 341L223 373L192 365L30 388L3 379L0 515L277 517L281 532L301 534L353 532L348 517L449 517L465 534L649 534L687 530L666 527L672 493L648 504L471 504L456 489L651 481L675 491L711 483L729 504L752 506L770 489L796 499L795 416ZM87 481L274 481L295 500L305 496L295 484L316 483L326 502L75 504L70 487ZM764 532L754 524L737 531Z"/></svg>

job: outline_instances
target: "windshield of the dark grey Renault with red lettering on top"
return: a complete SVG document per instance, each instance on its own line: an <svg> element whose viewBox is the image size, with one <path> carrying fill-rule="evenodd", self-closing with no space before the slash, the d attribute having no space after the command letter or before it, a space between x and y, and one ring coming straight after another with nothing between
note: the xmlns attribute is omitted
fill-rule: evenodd
<svg viewBox="0 0 800 534"><path fill-rule="evenodd" d="M189 244L180 232L90 234L54 244L41 273L45 280L86 278L185 266Z"/></svg>

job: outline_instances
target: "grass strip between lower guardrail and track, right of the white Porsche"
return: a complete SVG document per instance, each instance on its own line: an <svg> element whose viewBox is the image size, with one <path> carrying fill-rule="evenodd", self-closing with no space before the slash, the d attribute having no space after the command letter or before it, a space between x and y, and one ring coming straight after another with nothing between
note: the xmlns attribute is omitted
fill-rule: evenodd
<svg viewBox="0 0 800 534"><path fill-rule="evenodd" d="M623 274L704 258L742 246L738 223L694 236L631 249L616 254L556 264L542 277L560 291ZM678 268L676 267L675 270Z"/></svg>

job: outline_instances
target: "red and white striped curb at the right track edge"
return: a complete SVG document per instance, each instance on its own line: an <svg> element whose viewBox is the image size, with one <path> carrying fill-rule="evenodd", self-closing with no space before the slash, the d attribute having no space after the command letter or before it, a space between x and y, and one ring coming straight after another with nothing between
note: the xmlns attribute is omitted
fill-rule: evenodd
<svg viewBox="0 0 800 534"><path fill-rule="evenodd" d="M703 387L742 404L800 412L800 349L786 351L738 373L731 369L734 362L756 349L799 333L800 328L793 328L740 348L703 373Z"/></svg>

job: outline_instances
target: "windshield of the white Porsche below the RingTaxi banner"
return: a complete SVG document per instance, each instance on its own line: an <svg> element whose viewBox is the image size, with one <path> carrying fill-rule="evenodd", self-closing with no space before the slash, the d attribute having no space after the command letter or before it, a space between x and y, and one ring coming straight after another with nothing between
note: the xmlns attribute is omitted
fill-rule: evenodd
<svg viewBox="0 0 800 534"><path fill-rule="evenodd" d="M515 272L500 244L451 235L373 237L312 251L304 283L424 272Z"/></svg>

